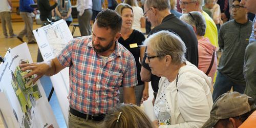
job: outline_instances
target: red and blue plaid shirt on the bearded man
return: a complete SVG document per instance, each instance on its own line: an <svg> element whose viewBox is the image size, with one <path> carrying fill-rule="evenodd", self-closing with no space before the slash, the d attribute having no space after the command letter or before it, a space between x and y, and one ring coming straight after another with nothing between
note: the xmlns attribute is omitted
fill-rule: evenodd
<svg viewBox="0 0 256 128"><path fill-rule="evenodd" d="M73 39L58 60L70 68L70 106L84 114L104 114L119 100L119 86L138 84L133 55L116 42L113 53L103 62L93 49L92 36Z"/></svg>

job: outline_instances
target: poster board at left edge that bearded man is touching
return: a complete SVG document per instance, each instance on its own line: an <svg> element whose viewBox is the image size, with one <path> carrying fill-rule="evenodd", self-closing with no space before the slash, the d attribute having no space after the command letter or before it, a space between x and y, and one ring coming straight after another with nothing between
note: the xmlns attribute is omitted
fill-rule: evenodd
<svg viewBox="0 0 256 128"><path fill-rule="evenodd" d="M25 78L31 70L21 71L20 63L32 63L23 43L5 55L0 65L0 115L6 127L59 127L44 89L34 75Z"/></svg>

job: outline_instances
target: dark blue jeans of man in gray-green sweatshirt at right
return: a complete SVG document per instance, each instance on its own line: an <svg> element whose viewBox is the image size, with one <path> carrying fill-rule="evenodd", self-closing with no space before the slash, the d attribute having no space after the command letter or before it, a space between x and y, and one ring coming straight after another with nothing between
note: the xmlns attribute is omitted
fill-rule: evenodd
<svg viewBox="0 0 256 128"><path fill-rule="evenodd" d="M233 92L244 93L245 86L240 86L229 79L222 73L218 72L214 84L214 92L212 92L212 100L215 101L220 95L230 91L233 87Z"/></svg>

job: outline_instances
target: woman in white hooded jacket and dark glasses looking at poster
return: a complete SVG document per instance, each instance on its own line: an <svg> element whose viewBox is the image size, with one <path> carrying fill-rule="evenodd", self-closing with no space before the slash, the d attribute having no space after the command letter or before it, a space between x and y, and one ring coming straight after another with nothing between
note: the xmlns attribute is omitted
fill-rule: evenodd
<svg viewBox="0 0 256 128"><path fill-rule="evenodd" d="M186 61L186 47L179 36L160 31L144 42L146 60L152 74L161 76L154 104L158 115L159 103L167 102L171 125L160 127L201 127L210 117L212 108L211 81L197 67ZM157 120L154 125L159 126Z"/></svg>

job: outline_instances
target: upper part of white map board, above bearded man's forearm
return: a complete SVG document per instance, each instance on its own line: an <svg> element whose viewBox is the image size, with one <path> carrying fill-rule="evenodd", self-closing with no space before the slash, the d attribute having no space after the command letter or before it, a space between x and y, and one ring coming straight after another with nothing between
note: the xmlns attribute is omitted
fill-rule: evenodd
<svg viewBox="0 0 256 128"><path fill-rule="evenodd" d="M73 36L65 20L33 30L37 45L44 61L56 57Z"/></svg>

